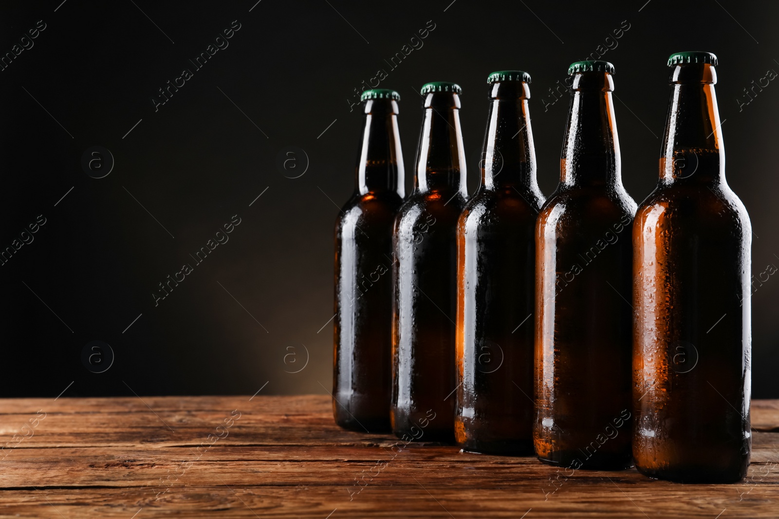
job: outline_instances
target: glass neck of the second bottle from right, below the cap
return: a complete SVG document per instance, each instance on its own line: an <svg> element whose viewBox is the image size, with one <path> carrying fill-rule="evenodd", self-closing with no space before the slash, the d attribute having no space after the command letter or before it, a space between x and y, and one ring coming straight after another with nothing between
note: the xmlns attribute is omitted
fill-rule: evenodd
<svg viewBox="0 0 779 519"><path fill-rule="evenodd" d="M622 184L619 136L607 72L580 72L573 78L560 182L571 187Z"/></svg>

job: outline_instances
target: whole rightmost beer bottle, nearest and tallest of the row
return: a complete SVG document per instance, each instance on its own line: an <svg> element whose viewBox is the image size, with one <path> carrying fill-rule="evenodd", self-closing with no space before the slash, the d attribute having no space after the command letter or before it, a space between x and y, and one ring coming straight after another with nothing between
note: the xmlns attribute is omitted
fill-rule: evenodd
<svg viewBox="0 0 779 519"><path fill-rule="evenodd" d="M660 180L633 224L633 456L653 478L734 482L752 447L752 226L725 181L717 57L668 66Z"/></svg>

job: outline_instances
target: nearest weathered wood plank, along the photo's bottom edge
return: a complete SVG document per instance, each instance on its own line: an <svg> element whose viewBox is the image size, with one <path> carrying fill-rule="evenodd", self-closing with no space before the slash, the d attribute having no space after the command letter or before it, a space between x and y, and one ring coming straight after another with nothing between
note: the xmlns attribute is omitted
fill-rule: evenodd
<svg viewBox="0 0 779 519"><path fill-rule="evenodd" d="M437 486L429 479L411 479L394 487L365 489L354 500L335 490L295 487L240 488L220 485L188 488L160 500L137 489L20 490L2 502L2 519L10 517L100 517L136 519L153 517L776 517L777 493L756 488L739 501L737 493L721 493L706 486L644 489L615 486L608 479L587 487L545 496L525 494L511 486L486 489L478 494L460 488ZM56 510L55 510L56 509ZM334 511L333 511L334 510ZM19 514L18 516L16 514Z"/></svg>

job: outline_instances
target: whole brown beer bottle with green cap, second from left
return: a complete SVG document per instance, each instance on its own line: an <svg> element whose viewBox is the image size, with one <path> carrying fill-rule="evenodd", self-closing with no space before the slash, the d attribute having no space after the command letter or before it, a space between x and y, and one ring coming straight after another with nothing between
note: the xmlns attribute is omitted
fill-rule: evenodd
<svg viewBox="0 0 779 519"><path fill-rule="evenodd" d="M395 219L393 432L453 440L456 225L465 205L460 86L422 86L414 191Z"/></svg>

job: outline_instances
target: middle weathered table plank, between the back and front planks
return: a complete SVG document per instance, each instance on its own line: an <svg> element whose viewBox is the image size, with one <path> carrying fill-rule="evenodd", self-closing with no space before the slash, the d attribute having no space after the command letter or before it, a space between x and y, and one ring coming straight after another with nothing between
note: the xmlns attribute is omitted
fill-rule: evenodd
<svg viewBox="0 0 779 519"><path fill-rule="evenodd" d="M377 465L377 461L381 461ZM174 485L213 484L215 475L231 485L342 485L353 486L365 475L378 485L404 482L404 474L420 471L471 489L499 485L538 486L539 479L555 477L556 468L535 458L504 458L460 453L456 447L411 447L394 454L380 447L211 447L199 454L182 448L115 451L95 448L19 449L0 471L0 489L23 488L46 473L42 487L160 486L160 478ZM371 477L372 474L381 477ZM603 472L578 471L580 484L601 482ZM635 470L608 472L617 482L642 483ZM471 481L473 478L475 481ZM779 484L779 458L761 449L748 478ZM262 479L260 481L259 479Z"/></svg>

